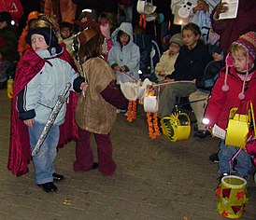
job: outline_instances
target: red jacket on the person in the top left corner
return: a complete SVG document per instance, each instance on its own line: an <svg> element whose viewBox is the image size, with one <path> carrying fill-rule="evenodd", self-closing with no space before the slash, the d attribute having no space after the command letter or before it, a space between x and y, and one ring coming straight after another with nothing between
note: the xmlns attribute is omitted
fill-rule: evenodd
<svg viewBox="0 0 256 220"><path fill-rule="evenodd" d="M16 24L24 13L20 0L0 0L0 11L9 12Z"/></svg>

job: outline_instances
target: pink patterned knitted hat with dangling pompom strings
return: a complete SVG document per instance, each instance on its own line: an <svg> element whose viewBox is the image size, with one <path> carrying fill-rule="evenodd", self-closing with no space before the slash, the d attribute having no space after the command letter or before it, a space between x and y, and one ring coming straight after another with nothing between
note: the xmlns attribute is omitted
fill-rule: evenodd
<svg viewBox="0 0 256 220"><path fill-rule="evenodd" d="M239 38L232 43L231 47L233 45L240 45L247 51L247 70L246 70L246 76L243 81L243 87L242 91L239 93L238 98L240 100L243 100L245 98L245 85L247 81L247 77L249 75L249 58L255 62L255 54L256 54L256 33L255 32L248 32L246 34L242 34L239 36ZM234 66L232 57L230 54L226 57L226 73L225 73L225 79L224 79L224 85L222 86L223 91L227 91L229 89L229 86L227 85L227 77L228 77L228 67Z"/></svg>

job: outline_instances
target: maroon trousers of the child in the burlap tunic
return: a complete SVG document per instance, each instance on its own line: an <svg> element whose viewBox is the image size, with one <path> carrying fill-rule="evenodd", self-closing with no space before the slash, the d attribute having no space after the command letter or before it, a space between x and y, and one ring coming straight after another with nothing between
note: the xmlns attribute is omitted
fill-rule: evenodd
<svg viewBox="0 0 256 220"><path fill-rule="evenodd" d="M88 172L92 170L93 153L91 148L91 131L78 128L79 139L76 144L75 172ZM112 144L110 134L93 133L97 143L98 169L104 175L112 175L116 170L116 163L112 158Z"/></svg>

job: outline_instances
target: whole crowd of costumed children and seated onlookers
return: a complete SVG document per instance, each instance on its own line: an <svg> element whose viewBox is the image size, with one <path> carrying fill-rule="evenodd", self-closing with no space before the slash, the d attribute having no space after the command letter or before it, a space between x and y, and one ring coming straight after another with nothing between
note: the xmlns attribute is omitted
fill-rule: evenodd
<svg viewBox="0 0 256 220"><path fill-rule="evenodd" d="M230 109L242 101L256 105L254 1L241 0L232 19L220 19L229 6L219 0L33 2L0 3L0 88L14 79L8 169L21 175L28 172L59 95L70 85L64 94L68 103L33 156L36 185L46 192L56 191L54 182L64 180L53 162L57 148L71 140L77 142L75 172L98 169L113 175L117 165L109 133L117 110L126 112L128 104L120 84L143 80L139 70L148 60L149 78L166 83L159 120L175 111L178 98L188 98L197 120L194 138L210 136L215 124L226 129ZM187 17L178 23L180 9ZM149 36L141 38L143 47L138 30ZM161 57L152 62L156 50ZM220 176L235 173L248 180L252 157L246 151L235 158L235 167L228 165L237 151L221 140L220 151L210 158L220 160Z"/></svg>

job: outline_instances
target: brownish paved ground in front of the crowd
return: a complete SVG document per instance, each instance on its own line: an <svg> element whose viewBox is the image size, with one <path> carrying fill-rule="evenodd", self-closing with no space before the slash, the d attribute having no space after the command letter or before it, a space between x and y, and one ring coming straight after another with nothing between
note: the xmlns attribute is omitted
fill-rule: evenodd
<svg viewBox="0 0 256 220"><path fill-rule="evenodd" d="M45 193L30 172L16 177L7 170L10 101L0 90L0 219L222 219L217 212L218 165L208 156L218 139L170 143L151 140L139 106L134 122L118 116L111 132L117 172L73 172L75 143L65 145L55 162L65 180L59 191ZM93 149L96 148L92 140ZM94 152L95 153L95 152ZM96 155L96 154L95 154ZM96 159L96 158L95 158ZM253 171L252 171L253 172ZM240 219L256 219L256 185L249 180L249 202Z"/></svg>

